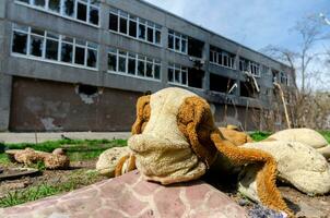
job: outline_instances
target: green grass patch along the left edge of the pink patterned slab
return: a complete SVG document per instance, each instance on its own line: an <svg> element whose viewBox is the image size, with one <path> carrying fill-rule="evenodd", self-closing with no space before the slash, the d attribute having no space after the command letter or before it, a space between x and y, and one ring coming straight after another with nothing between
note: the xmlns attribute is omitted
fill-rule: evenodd
<svg viewBox="0 0 330 218"><path fill-rule="evenodd" d="M73 191L81 186L93 184L98 174L95 171L76 170L68 175L68 180L56 184L43 183L21 191L9 192L0 198L0 207L11 207L26 202L40 199L47 196Z"/></svg>

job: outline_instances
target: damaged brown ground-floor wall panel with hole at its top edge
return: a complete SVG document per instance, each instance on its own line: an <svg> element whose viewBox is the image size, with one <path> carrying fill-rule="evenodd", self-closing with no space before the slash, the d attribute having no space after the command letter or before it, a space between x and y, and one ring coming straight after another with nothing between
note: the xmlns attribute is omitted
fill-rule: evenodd
<svg viewBox="0 0 330 218"><path fill-rule="evenodd" d="M141 95L14 77L10 131L130 131Z"/></svg>

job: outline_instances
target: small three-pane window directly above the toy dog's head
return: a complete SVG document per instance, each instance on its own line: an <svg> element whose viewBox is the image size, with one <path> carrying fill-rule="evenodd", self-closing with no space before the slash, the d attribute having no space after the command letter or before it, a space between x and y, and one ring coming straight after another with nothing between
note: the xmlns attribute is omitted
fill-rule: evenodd
<svg viewBox="0 0 330 218"><path fill-rule="evenodd" d="M188 69L179 64L168 64L168 82L188 86Z"/></svg>

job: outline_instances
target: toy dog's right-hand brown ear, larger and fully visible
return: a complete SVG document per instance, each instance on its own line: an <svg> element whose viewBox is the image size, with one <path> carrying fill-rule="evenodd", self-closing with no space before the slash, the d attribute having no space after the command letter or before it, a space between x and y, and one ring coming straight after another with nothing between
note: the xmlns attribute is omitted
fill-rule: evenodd
<svg viewBox="0 0 330 218"><path fill-rule="evenodd" d="M200 97L186 98L179 109L177 123L195 154L210 168L217 153L210 140L214 121L209 104Z"/></svg>

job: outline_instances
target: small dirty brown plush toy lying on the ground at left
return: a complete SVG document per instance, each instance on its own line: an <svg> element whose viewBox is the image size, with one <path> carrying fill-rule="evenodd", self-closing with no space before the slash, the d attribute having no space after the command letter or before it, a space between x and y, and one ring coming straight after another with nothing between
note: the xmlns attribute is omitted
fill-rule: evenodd
<svg viewBox="0 0 330 218"><path fill-rule="evenodd" d="M45 164L46 169L68 169L70 165L70 159L66 156L62 148L56 148L52 153L44 153L34 150L32 148L25 149L12 149L5 152L10 159L20 164L31 165L38 161Z"/></svg>

